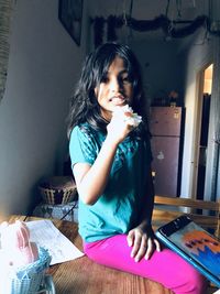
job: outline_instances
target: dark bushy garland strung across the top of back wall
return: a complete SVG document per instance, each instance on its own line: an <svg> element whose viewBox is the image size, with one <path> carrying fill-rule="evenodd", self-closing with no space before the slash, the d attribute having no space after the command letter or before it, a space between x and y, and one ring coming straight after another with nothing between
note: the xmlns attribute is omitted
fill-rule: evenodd
<svg viewBox="0 0 220 294"><path fill-rule="evenodd" d="M193 21L170 21L166 15L156 17L153 20L135 20L131 17L109 15L108 19L95 18L94 32L95 32L95 46L101 44L103 41L105 24L107 23L107 40L117 41L117 29L127 25L130 29L139 32L155 31L162 29L164 34L169 37L185 37L195 33L199 28L205 26L206 30L210 31L210 19L207 15L197 17ZM186 24L184 28L176 29L177 24Z"/></svg>

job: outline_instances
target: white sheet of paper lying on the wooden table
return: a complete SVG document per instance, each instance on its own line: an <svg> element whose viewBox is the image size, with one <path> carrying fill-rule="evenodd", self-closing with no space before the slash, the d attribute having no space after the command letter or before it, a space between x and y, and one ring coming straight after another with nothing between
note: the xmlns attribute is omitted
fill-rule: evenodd
<svg viewBox="0 0 220 294"><path fill-rule="evenodd" d="M31 233L31 241L48 250L51 265L74 260L84 255L48 219L25 222Z"/></svg>

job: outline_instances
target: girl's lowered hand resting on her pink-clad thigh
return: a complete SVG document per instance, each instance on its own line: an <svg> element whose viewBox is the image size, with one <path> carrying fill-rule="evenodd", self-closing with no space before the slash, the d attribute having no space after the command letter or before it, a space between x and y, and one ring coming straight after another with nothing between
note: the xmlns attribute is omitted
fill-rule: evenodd
<svg viewBox="0 0 220 294"><path fill-rule="evenodd" d="M135 262L139 262L143 257L147 260L152 253L161 251L161 244L155 238L152 227L143 230L136 227L129 231L128 237L129 247L133 247L131 251L131 258L134 258Z"/></svg>

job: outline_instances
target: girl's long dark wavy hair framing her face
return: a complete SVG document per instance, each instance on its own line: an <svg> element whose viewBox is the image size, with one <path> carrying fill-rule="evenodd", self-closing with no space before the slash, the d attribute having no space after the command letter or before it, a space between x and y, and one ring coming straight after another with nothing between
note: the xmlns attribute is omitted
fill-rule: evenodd
<svg viewBox="0 0 220 294"><path fill-rule="evenodd" d="M124 61L124 66L133 84L133 102L131 107L134 112L142 116L144 124L146 123L141 68L136 57L127 45L106 43L99 46L94 53L90 53L84 63L81 76L70 100L68 137L73 128L82 122L88 122L92 128L106 132L106 127L109 122L101 117L95 88L99 87L102 78L107 76L109 66L116 56ZM145 128L142 126L141 129Z"/></svg>

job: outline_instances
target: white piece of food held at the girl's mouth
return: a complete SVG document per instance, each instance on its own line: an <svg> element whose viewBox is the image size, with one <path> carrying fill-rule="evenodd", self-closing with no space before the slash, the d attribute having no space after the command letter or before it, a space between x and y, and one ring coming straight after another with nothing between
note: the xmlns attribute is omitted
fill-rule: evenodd
<svg viewBox="0 0 220 294"><path fill-rule="evenodd" d="M123 115L124 121L129 122L129 124L134 128L136 128L142 121L142 117L133 112L133 109L129 105L116 107L114 115Z"/></svg>

